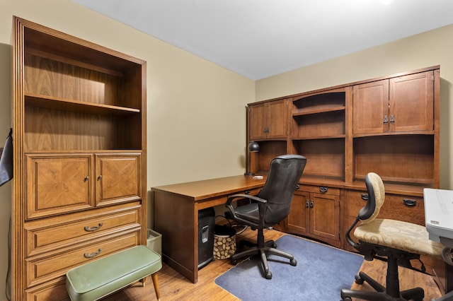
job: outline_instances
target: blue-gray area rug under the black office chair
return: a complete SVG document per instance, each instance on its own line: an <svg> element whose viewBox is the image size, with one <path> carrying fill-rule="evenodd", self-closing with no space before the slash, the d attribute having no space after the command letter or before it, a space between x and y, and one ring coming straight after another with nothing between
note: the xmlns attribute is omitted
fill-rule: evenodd
<svg viewBox="0 0 453 301"><path fill-rule="evenodd" d="M215 283L243 301L340 300L341 288L350 288L363 257L325 244L285 235L277 248L294 255L289 259L270 255L273 278L263 277L258 256L246 259L215 279Z"/></svg>

